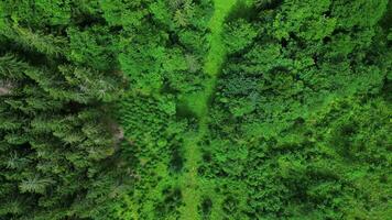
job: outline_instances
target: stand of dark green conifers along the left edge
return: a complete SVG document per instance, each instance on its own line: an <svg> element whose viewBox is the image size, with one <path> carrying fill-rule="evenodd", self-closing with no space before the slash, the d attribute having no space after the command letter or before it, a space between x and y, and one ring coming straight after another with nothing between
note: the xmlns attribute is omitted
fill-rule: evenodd
<svg viewBox="0 0 392 220"><path fill-rule="evenodd" d="M102 55L109 31L80 31L69 1L0 11L0 219L116 217L132 178L111 125L122 79Z"/></svg>

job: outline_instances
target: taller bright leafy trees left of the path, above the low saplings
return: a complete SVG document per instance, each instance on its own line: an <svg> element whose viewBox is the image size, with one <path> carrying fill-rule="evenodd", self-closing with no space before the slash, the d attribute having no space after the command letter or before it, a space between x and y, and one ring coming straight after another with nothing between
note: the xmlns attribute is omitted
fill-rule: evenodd
<svg viewBox="0 0 392 220"><path fill-rule="evenodd" d="M133 89L142 94L200 89L209 6L208 0L102 1L105 19L122 28L119 62Z"/></svg>

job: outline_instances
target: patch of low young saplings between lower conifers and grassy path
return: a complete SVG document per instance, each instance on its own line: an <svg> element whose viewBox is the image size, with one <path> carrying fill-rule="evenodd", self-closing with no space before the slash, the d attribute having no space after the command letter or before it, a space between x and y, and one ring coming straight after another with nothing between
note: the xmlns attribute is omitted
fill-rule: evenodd
<svg viewBox="0 0 392 220"><path fill-rule="evenodd" d="M187 122L176 122L167 98L129 97L124 100L126 111L121 112L127 141L132 146L129 152L139 161L139 182L130 194L134 207L128 211L140 219L178 216L182 195L175 177L183 168L181 134ZM172 199L173 204L165 202Z"/></svg>

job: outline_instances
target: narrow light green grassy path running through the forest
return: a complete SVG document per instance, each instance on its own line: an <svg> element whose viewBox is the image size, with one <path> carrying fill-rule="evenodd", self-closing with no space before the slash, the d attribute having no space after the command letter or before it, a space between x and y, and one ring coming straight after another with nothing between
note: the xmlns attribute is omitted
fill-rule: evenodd
<svg viewBox="0 0 392 220"><path fill-rule="evenodd" d="M198 208L202 204L202 194L205 189L211 189L211 183L202 179L198 174L198 165L202 161L200 142L208 134L208 102L215 91L217 78L226 58L226 50L222 41L222 30L225 18L229 14L237 0L214 0L215 12L209 23L211 31L210 51L206 57L204 73L208 75L205 81L205 89L187 98L190 109L198 117L198 129L188 132L184 140L185 173L179 178L179 186L183 190L183 202L181 207L182 220L202 219ZM208 190L211 191L211 190Z"/></svg>

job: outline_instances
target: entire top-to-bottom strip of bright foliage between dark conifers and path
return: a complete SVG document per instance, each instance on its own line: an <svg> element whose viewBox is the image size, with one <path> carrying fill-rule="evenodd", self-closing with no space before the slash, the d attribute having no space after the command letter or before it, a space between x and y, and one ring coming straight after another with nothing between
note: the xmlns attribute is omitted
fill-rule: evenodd
<svg viewBox="0 0 392 220"><path fill-rule="evenodd" d="M130 193L128 210L134 219L197 215L189 194L195 189L188 186L193 180L187 178L192 162L185 154L187 140L198 135L189 97L207 87L203 66L209 50L211 9L208 0L105 4L107 21L122 26L119 62L130 79L121 120L139 162L135 173L140 180ZM115 16L130 14L131 24L116 23Z"/></svg>

